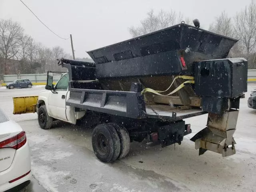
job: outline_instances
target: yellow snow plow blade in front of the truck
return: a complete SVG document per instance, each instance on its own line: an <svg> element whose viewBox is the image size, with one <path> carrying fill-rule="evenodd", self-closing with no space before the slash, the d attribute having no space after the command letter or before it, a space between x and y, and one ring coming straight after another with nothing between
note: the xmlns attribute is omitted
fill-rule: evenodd
<svg viewBox="0 0 256 192"><path fill-rule="evenodd" d="M36 112L38 96L13 97L13 114Z"/></svg>

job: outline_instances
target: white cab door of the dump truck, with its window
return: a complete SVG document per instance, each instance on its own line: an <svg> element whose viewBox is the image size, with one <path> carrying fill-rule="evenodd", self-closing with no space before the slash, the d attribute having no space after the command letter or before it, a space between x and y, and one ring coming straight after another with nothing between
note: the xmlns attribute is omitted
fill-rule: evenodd
<svg viewBox="0 0 256 192"><path fill-rule="evenodd" d="M66 117L66 96L68 93L68 74L64 74L57 82L55 92L50 93L48 108L50 115L56 119L67 120Z"/></svg>

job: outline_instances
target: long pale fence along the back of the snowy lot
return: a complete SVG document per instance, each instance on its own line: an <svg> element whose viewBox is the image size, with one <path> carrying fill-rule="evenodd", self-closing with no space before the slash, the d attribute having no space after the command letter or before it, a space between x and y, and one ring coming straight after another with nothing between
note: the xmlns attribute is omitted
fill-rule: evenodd
<svg viewBox="0 0 256 192"><path fill-rule="evenodd" d="M54 74L53 80L56 82L61 75ZM46 82L47 74L19 74L19 75L4 75L4 83L13 82L16 79L29 79L32 83ZM250 82L256 82L256 69L248 70L248 79Z"/></svg>

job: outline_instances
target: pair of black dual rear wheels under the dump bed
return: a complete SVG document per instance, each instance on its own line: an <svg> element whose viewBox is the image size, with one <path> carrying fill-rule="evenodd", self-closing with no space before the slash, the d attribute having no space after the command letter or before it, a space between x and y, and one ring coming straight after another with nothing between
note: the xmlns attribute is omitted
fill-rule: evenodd
<svg viewBox="0 0 256 192"><path fill-rule="evenodd" d="M130 150L128 131L115 123L100 124L92 132L92 148L102 162L123 158Z"/></svg>

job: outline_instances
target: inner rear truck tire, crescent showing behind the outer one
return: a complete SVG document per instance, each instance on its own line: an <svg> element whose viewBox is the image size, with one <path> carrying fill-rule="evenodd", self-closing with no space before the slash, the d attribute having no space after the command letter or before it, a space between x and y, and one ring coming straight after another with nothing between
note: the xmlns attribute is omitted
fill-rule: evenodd
<svg viewBox="0 0 256 192"><path fill-rule="evenodd" d="M121 148L120 148L120 154L118 156L119 159L124 158L130 151L130 136L126 128L122 125L118 125L116 123L110 123L116 130Z"/></svg>

